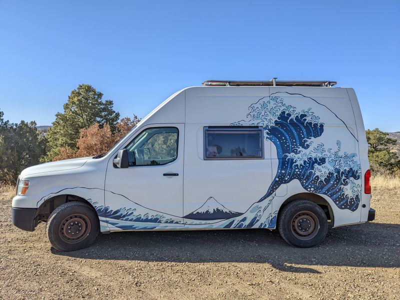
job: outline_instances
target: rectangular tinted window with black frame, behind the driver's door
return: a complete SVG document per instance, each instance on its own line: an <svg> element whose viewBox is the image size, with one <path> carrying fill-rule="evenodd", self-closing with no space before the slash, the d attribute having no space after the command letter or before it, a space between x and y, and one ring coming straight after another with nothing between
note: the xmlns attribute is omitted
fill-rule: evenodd
<svg viewBox="0 0 400 300"><path fill-rule="evenodd" d="M263 158L260 127L204 127L204 159Z"/></svg>

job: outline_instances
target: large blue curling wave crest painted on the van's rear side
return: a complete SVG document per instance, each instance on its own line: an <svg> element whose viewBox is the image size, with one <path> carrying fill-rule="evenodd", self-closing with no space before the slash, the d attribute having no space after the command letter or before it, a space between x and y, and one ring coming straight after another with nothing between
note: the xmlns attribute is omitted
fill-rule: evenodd
<svg viewBox="0 0 400 300"><path fill-rule="evenodd" d="M340 140L336 140L335 149L326 148L323 142L315 143L314 139L324 132L324 123L311 108L298 110L273 95L251 104L249 110L251 124L263 126L264 136L275 145L278 158L272 184L258 202L271 196L281 184L298 179L304 189L327 195L340 209L358 208L361 184L357 154L341 151Z"/></svg>

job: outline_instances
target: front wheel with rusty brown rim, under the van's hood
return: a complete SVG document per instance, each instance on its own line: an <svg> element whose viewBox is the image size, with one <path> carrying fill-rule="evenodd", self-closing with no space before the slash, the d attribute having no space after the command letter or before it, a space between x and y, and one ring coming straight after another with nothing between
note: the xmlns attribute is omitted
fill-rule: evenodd
<svg viewBox="0 0 400 300"><path fill-rule="evenodd" d="M93 208L84 202L64 203L51 212L46 224L51 245L60 251L87 247L99 233L99 221Z"/></svg>

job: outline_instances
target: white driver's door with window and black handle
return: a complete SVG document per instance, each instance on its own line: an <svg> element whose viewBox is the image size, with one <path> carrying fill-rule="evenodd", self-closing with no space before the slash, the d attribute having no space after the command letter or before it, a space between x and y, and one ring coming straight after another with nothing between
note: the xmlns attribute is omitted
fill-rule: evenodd
<svg viewBox="0 0 400 300"><path fill-rule="evenodd" d="M105 206L110 226L183 226L183 138L184 124L146 125L121 147L128 152L127 168L108 161Z"/></svg>

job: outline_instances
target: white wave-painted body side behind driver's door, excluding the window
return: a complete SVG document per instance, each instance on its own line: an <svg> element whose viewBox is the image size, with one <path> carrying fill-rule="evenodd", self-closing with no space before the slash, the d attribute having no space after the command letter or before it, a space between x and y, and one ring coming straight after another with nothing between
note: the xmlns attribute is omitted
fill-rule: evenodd
<svg viewBox="0 0 400 300"><path fill-rule="evenodd" d="M334 226L360 222L362 130L345 88L192 87L185 106L184 214L221 199L239 215L206 228L275 228L287 198L314 193L329 204ZM204 161L202 128L211 125L262 126L270 167L265 159Z"/></svg>

